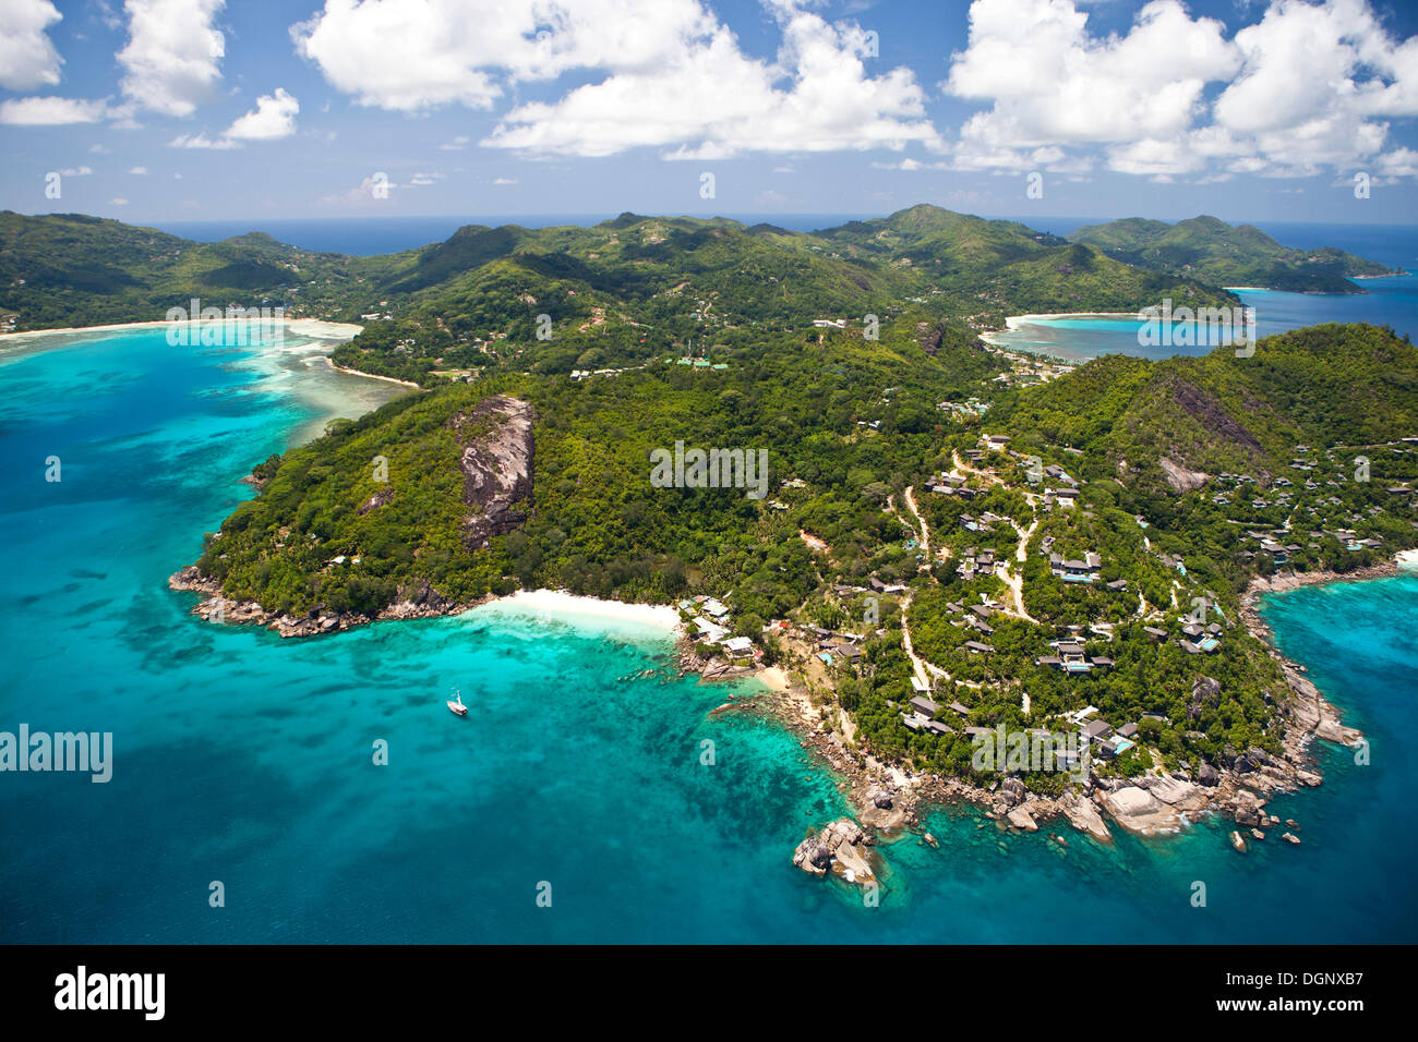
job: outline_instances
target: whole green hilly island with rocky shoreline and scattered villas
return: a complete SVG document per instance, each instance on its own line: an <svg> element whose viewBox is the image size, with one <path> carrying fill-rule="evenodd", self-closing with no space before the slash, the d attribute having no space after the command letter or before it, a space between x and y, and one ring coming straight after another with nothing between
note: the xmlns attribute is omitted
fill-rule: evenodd
<svg viewBox="0 0 1418 1042"><path fill-rule="evenodd" d="M7 214L0 274L65 223L115 240L123 278L65 284L88 315L160 316L196 281L354 320L335 362L417 388L252 461L254 498L174 561L194 612L330 639L519 590L675 605L681 669L763 679L736 705L849 784L855 819L793 858L814 875L875 880L871 834L947 801L1103 842L1221 812L1259 842L1273 794L1320 784L1312 741L1364 741L1258 598L1418 546L1418 353L1391 329L1004 350L978 333L1008 313L1227 306L1229 274L926 206L813 234L468 227L384 258Z"/></svg>

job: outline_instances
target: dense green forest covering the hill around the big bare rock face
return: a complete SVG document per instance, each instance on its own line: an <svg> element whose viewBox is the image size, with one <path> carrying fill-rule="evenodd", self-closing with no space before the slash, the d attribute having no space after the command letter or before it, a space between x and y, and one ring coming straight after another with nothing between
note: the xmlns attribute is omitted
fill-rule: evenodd
<svg viewBox="0 0 1418 1042"><path fill-rule="evenodd" d="M893 330L881 343L783 336L727 354L727 370L661 364L587 383L526 373L441 386L286 454L208 543L203 568L231 597L296 612L345 605L332 586L366 577L386 604L414 578L452 600L520 581L625 600L732 591L740 617L781 617L820 581L798 526L838 543L849 574L892 567L879 544L899 526L881 502L939 439L936 400L977 391L1000 370L954 330L933 350ZM461 483L447 424L492 393L530 401L540 418L536 510L522 530L467 553L457 549ZM769 496L651 486L649 452L676 441L766 449ZM362 515L380 491L377 455L394 498ZM261 468L271 474L269 461ZM780 488L791 478L811 492ZM360 563L328 566L337 556Z"/></svg>

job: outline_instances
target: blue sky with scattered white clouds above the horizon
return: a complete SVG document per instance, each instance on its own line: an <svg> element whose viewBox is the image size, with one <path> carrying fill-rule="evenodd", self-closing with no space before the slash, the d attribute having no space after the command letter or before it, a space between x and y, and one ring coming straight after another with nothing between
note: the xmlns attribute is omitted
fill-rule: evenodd
<svg viewBox="0 0 1418 1042"><path fill-rule="evenodd" d="M0 208L1414 224L1415 9L0 0Z"/></svg>

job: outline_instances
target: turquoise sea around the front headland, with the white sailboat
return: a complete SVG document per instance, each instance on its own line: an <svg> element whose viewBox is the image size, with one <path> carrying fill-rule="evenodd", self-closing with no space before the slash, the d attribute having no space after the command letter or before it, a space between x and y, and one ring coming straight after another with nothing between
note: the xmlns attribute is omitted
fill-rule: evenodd
<svg viewBox="0 0 1418 1042"><path fill-rule="evenodd" d="M939 849L886 848L868 909L790 863L845 812L837 781L777 726L715 713L736 692L678 679L655 629L496 605L281 641L190 617L167 574L254 461L359 400L330 380L147 332L0 354L0 730L115 744L108 784L0 774L0 940L1418 940L1398 751L1418 580L1269 608L1374 741L1373 766L1324 750L1324 785L1272 805L1305 845L1241 856L1202 822L1113 846L1068 829L1065 852L943 811Z"/></svg>

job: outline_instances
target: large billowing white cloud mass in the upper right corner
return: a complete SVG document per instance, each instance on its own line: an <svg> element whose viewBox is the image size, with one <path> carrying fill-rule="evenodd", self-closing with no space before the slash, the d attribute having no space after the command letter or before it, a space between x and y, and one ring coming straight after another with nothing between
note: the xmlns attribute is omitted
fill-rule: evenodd
<svg viewBox="0 0 1418 1042"><path fill-rule="evenodd" d="M1418 37L1391 38L1368 0L1273 0L1231 40L1180 0L1153 0L1122 34L1088 21L1075 0L970 6L946 89L990 108L961 126L957 167L1305 176L1377 160L1383 118L1418 115ZM1214 103L1208 84L1224 85Z"/></svg>

